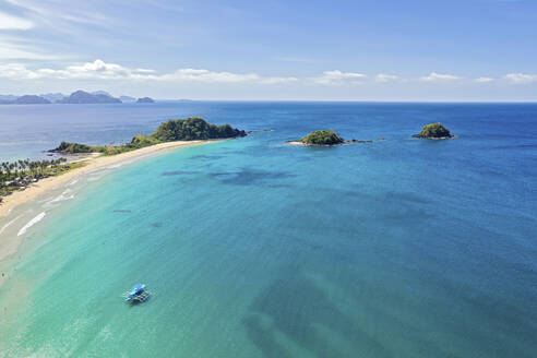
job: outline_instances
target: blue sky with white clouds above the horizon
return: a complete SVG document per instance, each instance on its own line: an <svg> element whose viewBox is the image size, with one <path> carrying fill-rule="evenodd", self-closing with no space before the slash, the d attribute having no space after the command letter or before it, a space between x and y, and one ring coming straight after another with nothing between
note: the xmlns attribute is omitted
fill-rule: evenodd
<svg viewBox="0 0 537 358"><path fill-rule="evenodd" d="M536 102L536 0L0 0L0 94Z"/></svg>

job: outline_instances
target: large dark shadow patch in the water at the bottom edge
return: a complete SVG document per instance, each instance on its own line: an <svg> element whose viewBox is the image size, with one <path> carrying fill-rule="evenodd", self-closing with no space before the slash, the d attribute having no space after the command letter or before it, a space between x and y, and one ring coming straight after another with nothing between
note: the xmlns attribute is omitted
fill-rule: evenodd
<svg viewBox="0 0 537 358"><path fill-rule="evenodd" d="M286 341L317 357L349 357L337 344L339 339L329 341L319 327L333 332L353 348L370 353L371 357L392 357L358 322L344 314L323 289L290 270L254 299L242 324L248 337L265 357L293 356L278 336L285 336Z"/></svg>

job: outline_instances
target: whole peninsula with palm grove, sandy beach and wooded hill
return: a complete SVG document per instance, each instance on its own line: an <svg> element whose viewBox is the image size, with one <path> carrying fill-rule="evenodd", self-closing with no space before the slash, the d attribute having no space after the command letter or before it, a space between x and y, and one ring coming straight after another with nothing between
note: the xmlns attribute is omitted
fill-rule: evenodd
<svg viewBox="0 0 537 358"><path fill-rule="evenodd" d="M94 146L61 142L57 148L49 152L76 155L69 162L60 157L52 160L27 159L0 164L0 215L74 176L91 170L163 150L207 144L216 140L246 135L247 132L229 124L215 126L207 123L203 118L191 117L164 122L153 134L135 135L131 142L122 145Z"/></svg>

